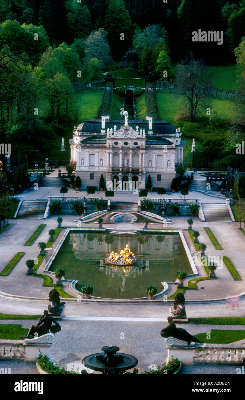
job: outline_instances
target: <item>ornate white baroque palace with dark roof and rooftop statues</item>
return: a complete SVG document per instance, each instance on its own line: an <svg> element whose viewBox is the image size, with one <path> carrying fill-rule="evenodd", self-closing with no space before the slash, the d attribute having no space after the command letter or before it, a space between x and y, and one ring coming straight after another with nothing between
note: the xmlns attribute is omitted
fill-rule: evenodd
<svg viewBox="0 0 245 400"><path fill-rule="evenodd" d="M180 128L166 121L87 120L73 130L70 139L71 162L76 162L76 176L81 188L96 186L103 174L106 187L113 182L126 190L145 188L148 175L152 187L170 189L175 164L182 163L184 142ZM118 189L119 190L119 189Z"/></svg>

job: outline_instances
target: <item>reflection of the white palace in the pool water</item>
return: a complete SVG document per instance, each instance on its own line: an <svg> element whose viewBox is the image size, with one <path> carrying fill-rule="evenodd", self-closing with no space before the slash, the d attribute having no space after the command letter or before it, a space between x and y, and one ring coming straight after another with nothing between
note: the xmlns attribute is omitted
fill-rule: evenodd
<svg viewBox="0 0 245 400"><path fill-rule="evenodd" d="M70 234L69 244L72 244L76 258L82 261L98 260L100 266L106 263L106 259L112 251L120 253L128 244L140 265L146 268L150 268L151 261L174 260L178 253L178 247L182 246L178 234L119 237L105 234L73 233Z"/></svg>

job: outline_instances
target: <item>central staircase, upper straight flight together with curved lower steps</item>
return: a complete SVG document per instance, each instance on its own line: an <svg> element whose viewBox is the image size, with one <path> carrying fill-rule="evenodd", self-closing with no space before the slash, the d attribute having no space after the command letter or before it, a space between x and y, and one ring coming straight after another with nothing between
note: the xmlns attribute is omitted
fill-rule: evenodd
<svg viewBox="0 0 245 400"><path fill-rule="evenodd" d="M101 211L97 214L91 214L91 216L82 218L82 221L86 223L98 223L99 218L103 218L103 223L112 224L111 217L121 213L135 216L137 218L137 224L143 224L145 218L148 218L149 224L162 224L164 222L164 218L156 214L152 215L146 211L138 211L138 206L136 204L113 204L110 207L110 211Z"/></svg>

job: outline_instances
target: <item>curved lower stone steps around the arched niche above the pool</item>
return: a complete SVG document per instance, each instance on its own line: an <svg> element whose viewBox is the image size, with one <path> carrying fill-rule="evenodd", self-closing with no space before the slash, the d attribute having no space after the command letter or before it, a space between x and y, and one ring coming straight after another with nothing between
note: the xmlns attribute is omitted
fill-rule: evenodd
<svg viewBox="0 0 245 400"><path fill-rule="evenodd" d="M79 218L82 222L86 222L87 224L89 223L95 223L98 224L99 218L103 218L103 224L113 224L111 222L111 217L121 214L122 212L127 212L128 214L132 214L137 218L136 224L143 224L144 219L148 218L149 224L163 224L164 219L161 218L160 216L157 216L156 214L150 214L149 212L146 211L137 211L137 212L130 212L128 210L126 211L120 211L120 212L114 212L114 211L101 211L100 213L97 214L91 214L91 216Z"/></svg>

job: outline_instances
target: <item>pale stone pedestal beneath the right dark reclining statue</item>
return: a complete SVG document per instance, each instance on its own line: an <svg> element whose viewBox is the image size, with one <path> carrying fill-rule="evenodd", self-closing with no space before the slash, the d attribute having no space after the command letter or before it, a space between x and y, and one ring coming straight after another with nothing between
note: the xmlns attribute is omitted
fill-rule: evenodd
<svg viewBox="0 0 245 400"><path fill-rule="evenodd" d="M182 365L194 365L193 350L196 348L194 342L191 342L190 345L188 345L184 340L172 338L172 336L166 338L165 341L168 350L167 362L172 361L172 356L174 356L175 358L178 358Z"/></svg>

